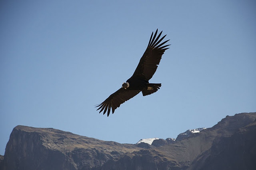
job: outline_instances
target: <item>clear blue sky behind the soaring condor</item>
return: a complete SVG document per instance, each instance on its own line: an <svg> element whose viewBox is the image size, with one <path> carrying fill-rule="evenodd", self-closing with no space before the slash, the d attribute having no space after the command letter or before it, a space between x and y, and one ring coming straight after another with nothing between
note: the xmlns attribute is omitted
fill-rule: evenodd
<svg viewBox="0 0 256 170"><path fill-rule="evenodd" d="M0 1L0 154L17 125L120 143L176 138L256 111L256 1ZM170 49L138 94L107 117L152 31Z"/></svg>

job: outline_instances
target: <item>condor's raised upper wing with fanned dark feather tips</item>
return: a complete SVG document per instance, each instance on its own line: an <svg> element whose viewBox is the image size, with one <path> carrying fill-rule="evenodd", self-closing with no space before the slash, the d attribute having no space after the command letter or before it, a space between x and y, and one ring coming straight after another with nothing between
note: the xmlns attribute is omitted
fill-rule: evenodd
<svg viewBox="0 0 256 170"><path fill-rule="evenodd" d="M146 80L150 80L150 78L152 78L152 76L156 72L157 65L160 63L160 60L162 58L162 55L164 54L164 51L168 49L166 47L170 46L170 45L164 45L169 40L166 40L160 43L166 35L160 38L162 34L162 32L160 32L160 34L156 37L157 31L158 30L156 30L156 33L154 34L153 38L152 38L153 36L153 32L152 32L150 40L148 42L148 47L144 52L142 58L140 58L140 62L132 76L138 76Z"/></svg>

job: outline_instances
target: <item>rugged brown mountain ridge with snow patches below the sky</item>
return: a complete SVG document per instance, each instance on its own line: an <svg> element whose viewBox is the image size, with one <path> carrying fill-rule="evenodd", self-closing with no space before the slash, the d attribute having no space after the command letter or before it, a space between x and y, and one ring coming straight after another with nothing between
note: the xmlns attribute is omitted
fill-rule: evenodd
<svg viewBox="0 0 256 170"><path fill-rule="evenodd" d="M226 116L212 128L137 144L53 128L16 126L0 170L254 170L256 113Z"/></svg>

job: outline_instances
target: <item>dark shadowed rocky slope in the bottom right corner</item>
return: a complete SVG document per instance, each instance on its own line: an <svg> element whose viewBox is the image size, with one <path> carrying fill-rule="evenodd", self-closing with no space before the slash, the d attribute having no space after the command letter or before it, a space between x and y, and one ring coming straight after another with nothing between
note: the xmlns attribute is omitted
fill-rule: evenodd
<svg viewBox="0 0 256 170"><path fill-rule="evenodd" d="M230 137L221 137L210 150L200 155L190 169L256 169L256 120ZM218 164L216 164L218 162Z"/></svg>

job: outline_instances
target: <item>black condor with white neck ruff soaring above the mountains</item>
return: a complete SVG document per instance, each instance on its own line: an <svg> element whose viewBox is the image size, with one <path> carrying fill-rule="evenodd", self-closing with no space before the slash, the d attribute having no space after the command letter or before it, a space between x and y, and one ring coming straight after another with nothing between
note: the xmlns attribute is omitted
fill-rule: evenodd
<svg viewBox="0 0 256 170"><path fill-rule="evenodd" d="M100 112L104 111L103 114L108 112L109 116L111 108L112 114L114 114L114 111L120 106L120 104L133 98L140 92L142 92L143 96L147 96L160 89L161 83L149 83L148 81L156 72L162 55L164 54L165 50L168 49L166 47L170 45L164 45L169 40L162 42L166 35L160 38L162 31L160 34L158 34L158 36L157 31L158 29L156 30L154 36L154 32L152 32L146 51L140 58L140 62L132 77L126 80L126 82L122 84L122 87L111 94L104 102L96 105L96 107L99 107L97 110L100 110Z"/></svg>

